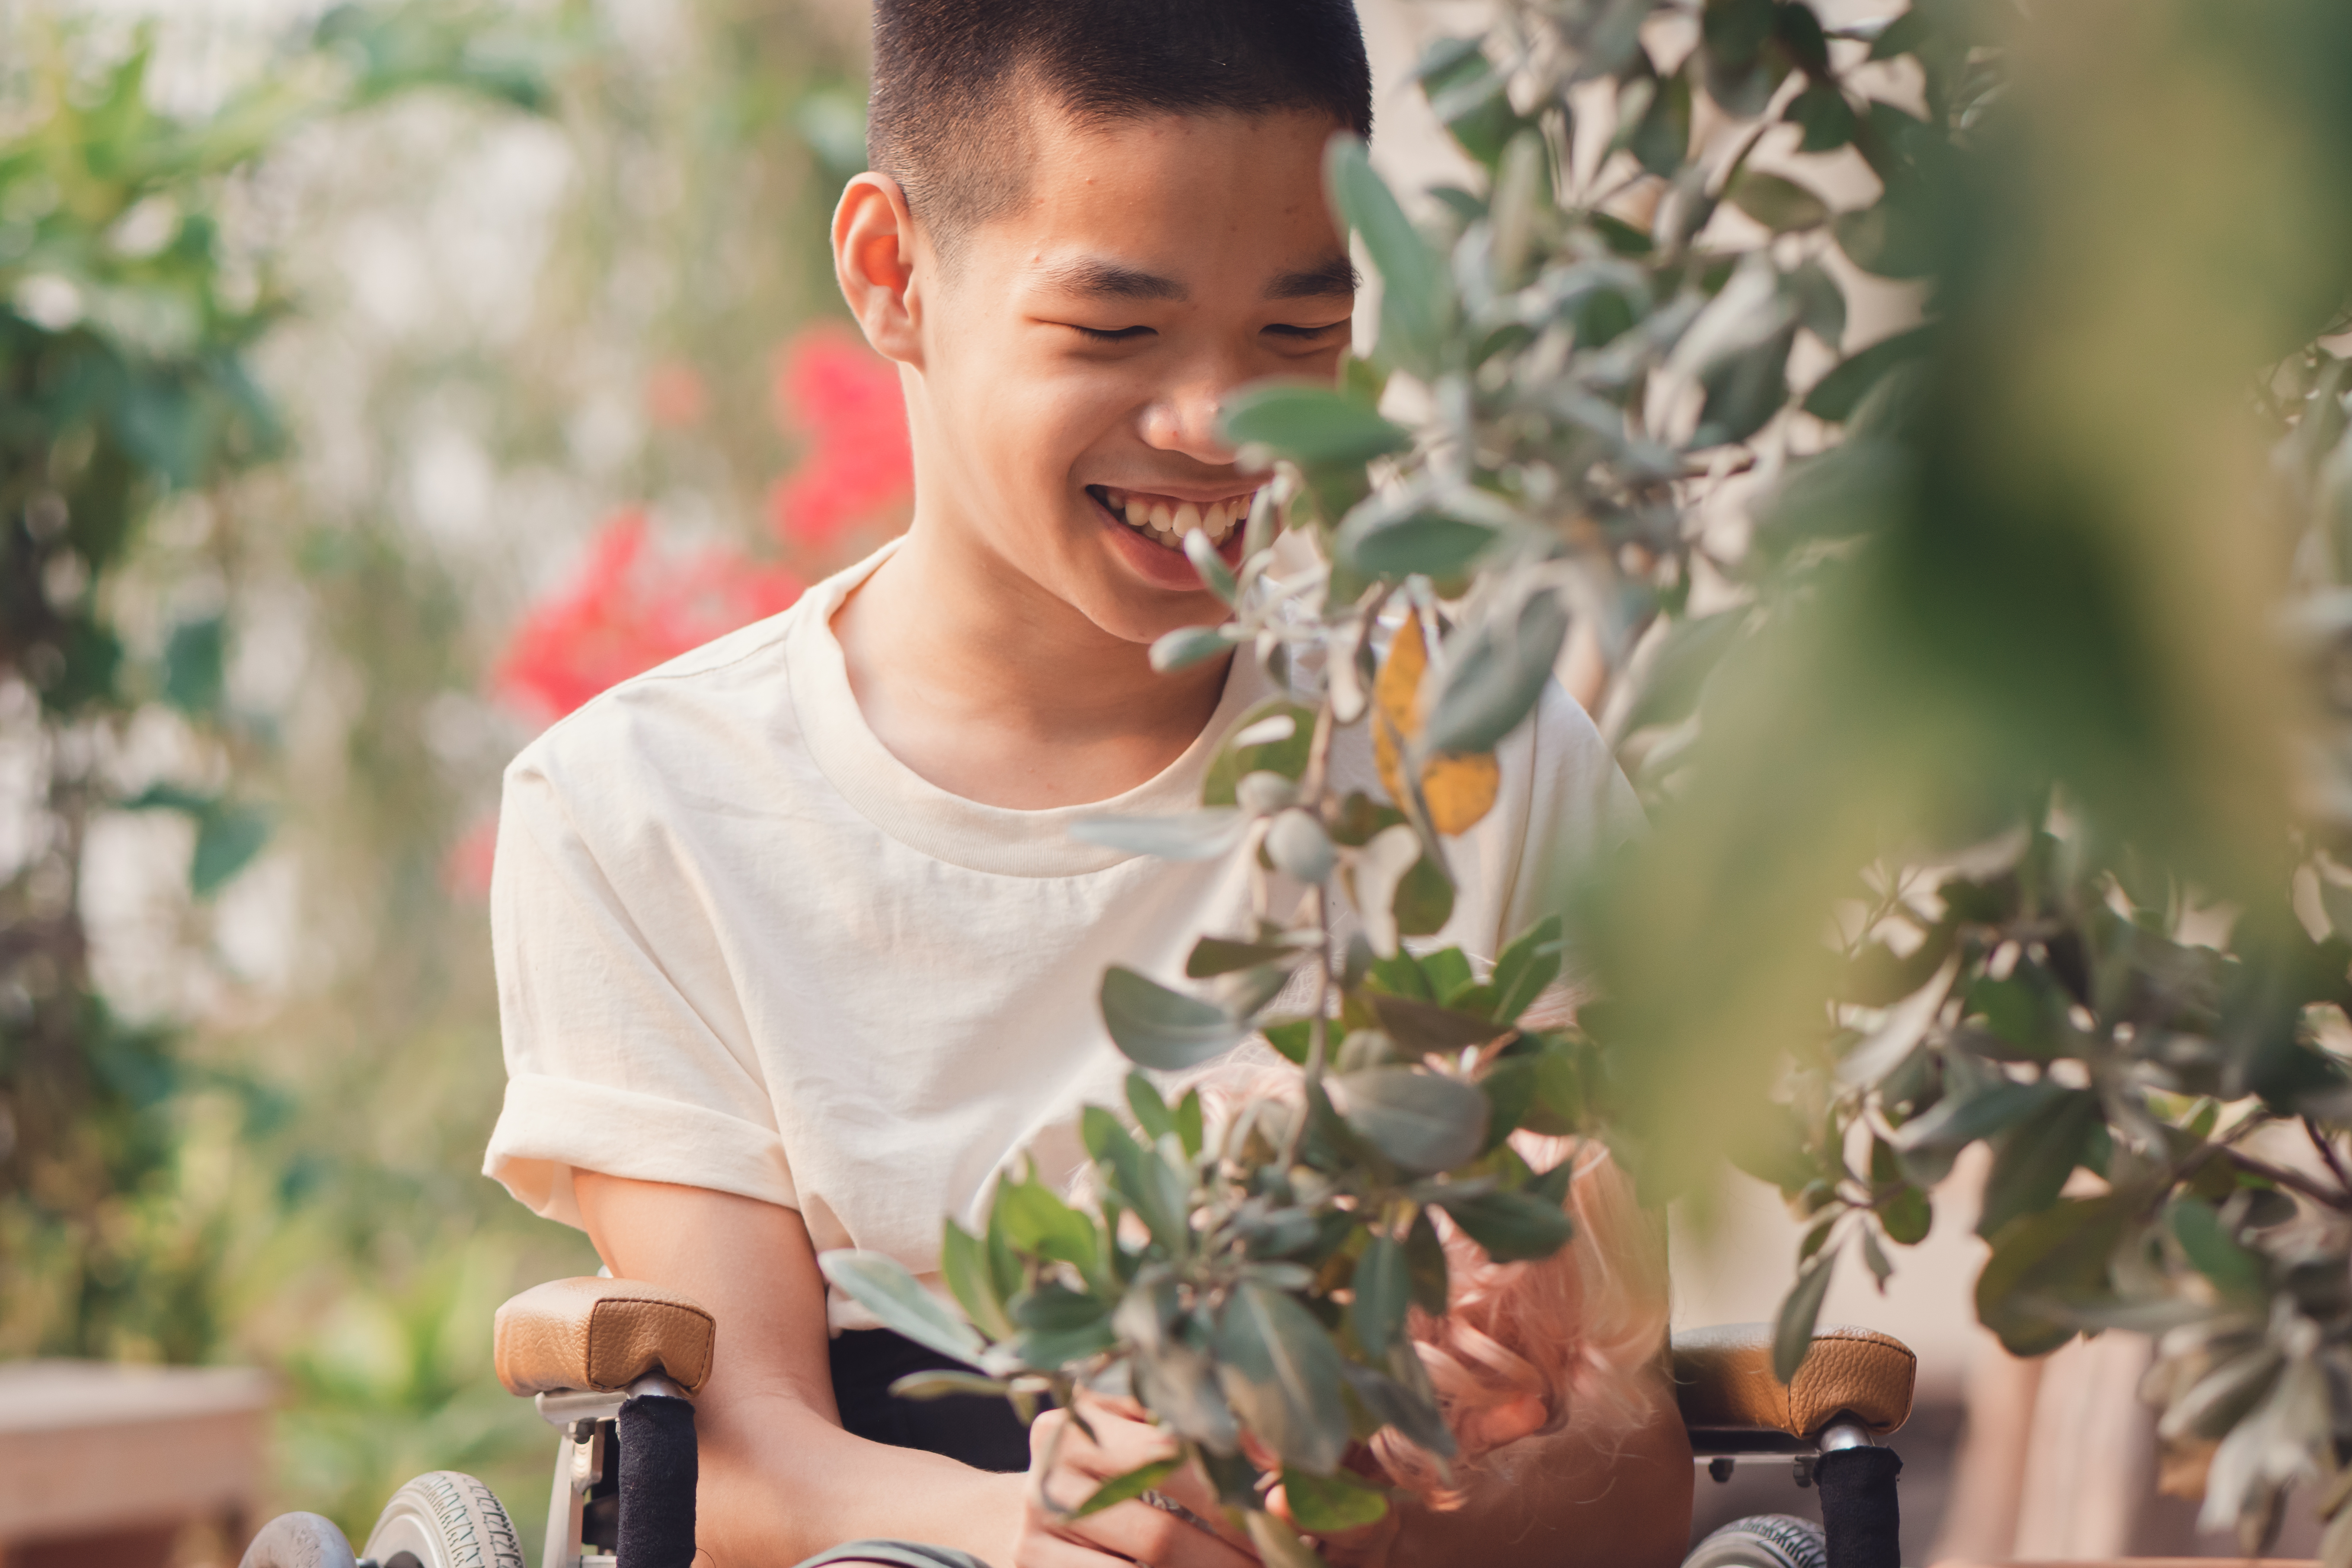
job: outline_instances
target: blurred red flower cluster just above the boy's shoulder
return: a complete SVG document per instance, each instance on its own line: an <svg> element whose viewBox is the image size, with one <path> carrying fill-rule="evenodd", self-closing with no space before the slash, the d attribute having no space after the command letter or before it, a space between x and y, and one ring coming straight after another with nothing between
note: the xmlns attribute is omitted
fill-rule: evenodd
<svg viewBox="0 0 2352 1568"><path fill-rule="evenodd" d="M560 719L597 691L652 670L800 597L800 581L734 550L661 562L644 512L621 512L588 545L579 578L541 599L499 658L496 686Z"/></svg>

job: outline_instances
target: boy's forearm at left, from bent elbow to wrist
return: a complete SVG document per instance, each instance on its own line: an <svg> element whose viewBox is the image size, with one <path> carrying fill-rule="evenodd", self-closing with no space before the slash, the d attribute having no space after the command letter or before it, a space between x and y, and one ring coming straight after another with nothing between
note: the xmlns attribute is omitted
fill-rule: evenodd
<svg viewBox="0 0 2352 1568"><path fill-rule="evenodd" d="M696 1540L717 1568L781 1568L896 1537L1002 1561L1023 1476L842 1432L793 1399L699 1413Z"/></svg>

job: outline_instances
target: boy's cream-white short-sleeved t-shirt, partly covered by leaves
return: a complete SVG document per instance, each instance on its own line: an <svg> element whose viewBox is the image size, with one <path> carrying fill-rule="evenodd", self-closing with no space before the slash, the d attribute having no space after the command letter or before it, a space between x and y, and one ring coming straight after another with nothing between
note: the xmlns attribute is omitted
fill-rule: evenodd
<svg viewBox="0 0 2352 1568"><path fill-rule="evenodd" d="M1120 1103L1103 969L1183 985L1195 938L1247 931L1240 853L1169 863L1068 825L1195 809L1228 729L1272 693L1256 661L1235 658L1216 717L1150 783L983 806L891 757L849 691L833 611L884 555L614 686L508 766L508 1086L485 1171L532 1211L579 1225L574 1168L713 1187L936 1284L946 1215L974 1225L1030 1147L1061 1180L1077 1110ZM1534 919L1545 863L1639 823L1557 686L1501 762L1494 811L1449 844L1461 886L1437 938L1482 957ZM1341 731L1334 778L1378 795L1364 726ZM840 1295L830 1321L873 1324Z"/></svg>

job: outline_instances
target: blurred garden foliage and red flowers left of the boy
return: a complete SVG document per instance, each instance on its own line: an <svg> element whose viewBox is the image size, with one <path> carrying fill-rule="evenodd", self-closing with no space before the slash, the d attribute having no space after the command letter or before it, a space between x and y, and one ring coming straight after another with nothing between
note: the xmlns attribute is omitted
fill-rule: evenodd
<svg viewBox="0 0 2352 1568"><path fill-rule="evenodd" d="M0 1359L275 1368L353 1533L461 1467L536 1535L489 1312L595 1267L475 1175L499 769L901 505L793 473L863 348L779 357L861 33L0 7Z"/></svg>

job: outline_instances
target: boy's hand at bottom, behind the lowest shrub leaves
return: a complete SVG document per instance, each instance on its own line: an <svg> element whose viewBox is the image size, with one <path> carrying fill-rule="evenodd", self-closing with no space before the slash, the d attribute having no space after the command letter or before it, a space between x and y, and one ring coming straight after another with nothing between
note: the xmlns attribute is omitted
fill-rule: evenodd
<svg viewBox="0 0 2352 1568"><path fill-rule="evenodd" d="M1216 1526L1216 1535L1148 1502L1120 1502L1070 1519L1068 1509L1103 1481L1176 1453L1176 1441L1143 1420L1134 1401L1080 1392L1077 1408L1094 1429L1091 1439L1068 1410L1047 1410L1030 1425L1028 1507L1021 1509L1014 1568L1256 1568L1258 1554L1232 1535L1207 1476L1190 1465L1155 1490Z"/></svg>

